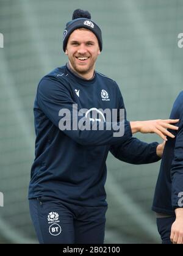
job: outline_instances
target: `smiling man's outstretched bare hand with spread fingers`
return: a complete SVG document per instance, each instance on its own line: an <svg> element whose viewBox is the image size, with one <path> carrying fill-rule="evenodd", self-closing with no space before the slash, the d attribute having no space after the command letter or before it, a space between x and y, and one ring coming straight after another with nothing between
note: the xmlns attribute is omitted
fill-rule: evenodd
<svg viewBox="0 0 183 256"><path fill-rule="evenodd" d="M149 121L130 122L132 133L157 133L164 141L167 141L167 136L174 138L175 136L167 131L167 129L178 130L178 126L171 123L178 123L179 119L157 119Z"/></svg>

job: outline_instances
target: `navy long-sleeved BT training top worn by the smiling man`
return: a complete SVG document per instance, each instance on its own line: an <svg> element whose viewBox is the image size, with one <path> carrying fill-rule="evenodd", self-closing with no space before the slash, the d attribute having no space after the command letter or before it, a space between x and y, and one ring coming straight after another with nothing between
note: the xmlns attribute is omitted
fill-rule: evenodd
<svg viewBox="0 0 183 256"><path fill-rule="evenodd" d="M107 100L101 94L105 91ZM147 164L159 160L157 142L146 144L132 137L127 120L121 137L114 137L113 130L105 130L106 123L103 131L61 131L59 111L72 112L73 104L78 105L78 110L124 109L117 83L96 71L93 79L85 80L65 65L43 77L34 104L35 160L29 199L51 196L76 205L107 205L104 185L109 150L121 161Z"/></svg>

